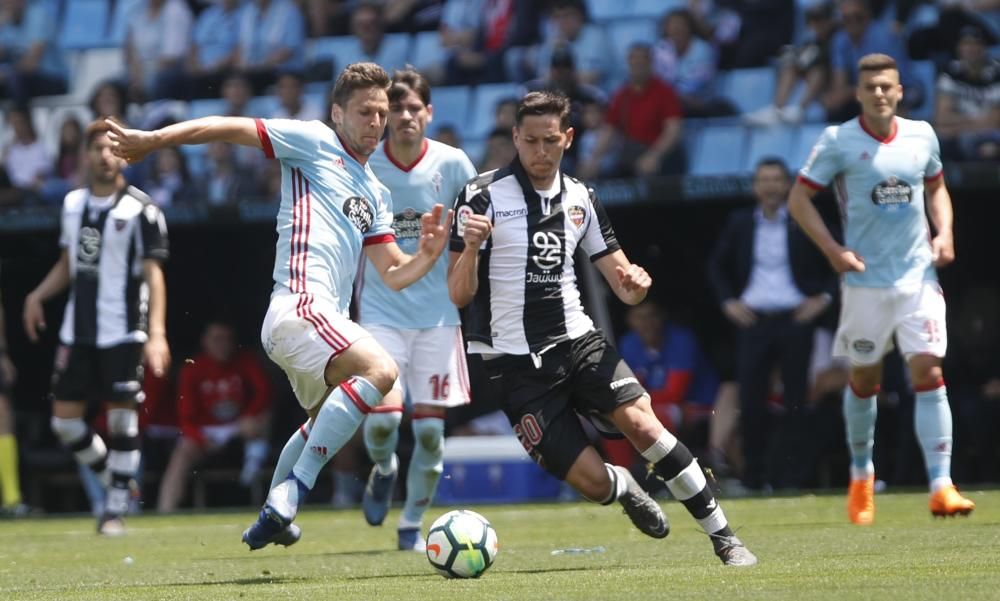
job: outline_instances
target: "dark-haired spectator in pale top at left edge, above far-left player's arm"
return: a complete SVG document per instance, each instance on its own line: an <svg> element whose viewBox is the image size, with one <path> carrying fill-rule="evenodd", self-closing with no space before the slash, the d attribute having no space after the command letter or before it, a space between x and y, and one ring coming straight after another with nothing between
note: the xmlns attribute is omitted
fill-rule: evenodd
<svg viewBox="0 0 1000 601"><path fill-rule="evenodd" d="M35 132L27 106L15 105L7 109L7 127L14 135L0 151L0 164L13 188L35 196L52 170L52 159Z"/></svg>

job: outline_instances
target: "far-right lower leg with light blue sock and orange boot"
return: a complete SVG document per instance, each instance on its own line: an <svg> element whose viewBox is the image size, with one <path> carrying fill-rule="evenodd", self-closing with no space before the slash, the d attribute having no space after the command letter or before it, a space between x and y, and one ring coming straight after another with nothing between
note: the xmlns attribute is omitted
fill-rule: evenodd
<svg viewBox="0 0 1000 601"><path fill-rule="evenodd" d="M976 504L959 494L951 480L951 407L941 372L941 359L919 354L911 357L909 364L913 391L916 393L913 422L927 467L931 513L939 517L969 515Z"/></svg>

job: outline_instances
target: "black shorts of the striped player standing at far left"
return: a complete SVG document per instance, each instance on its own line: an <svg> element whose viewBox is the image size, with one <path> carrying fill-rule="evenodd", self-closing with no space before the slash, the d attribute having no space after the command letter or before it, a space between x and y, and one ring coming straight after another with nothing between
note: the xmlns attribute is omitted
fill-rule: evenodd
<svg viewBox="0 0 1000 601"><path fill-rule="evenodd" d="M57 401L142 402L142 343L60 345L51 396Z"/></svg>

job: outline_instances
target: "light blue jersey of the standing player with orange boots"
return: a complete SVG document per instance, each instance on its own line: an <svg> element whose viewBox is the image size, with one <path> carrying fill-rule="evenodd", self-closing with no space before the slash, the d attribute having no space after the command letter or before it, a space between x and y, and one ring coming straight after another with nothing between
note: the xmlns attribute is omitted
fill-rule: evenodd
<svg viewBox="0 0 1000 601"><path fill-rule="evenodd" d="M833 183L845 243L865 261L865 271L845 274L845 283L890 288L937 279L924 182L942 175L938 139L926 121L896 117L885 139L860 117L826 128L799 181L816 189Z"/></svg>

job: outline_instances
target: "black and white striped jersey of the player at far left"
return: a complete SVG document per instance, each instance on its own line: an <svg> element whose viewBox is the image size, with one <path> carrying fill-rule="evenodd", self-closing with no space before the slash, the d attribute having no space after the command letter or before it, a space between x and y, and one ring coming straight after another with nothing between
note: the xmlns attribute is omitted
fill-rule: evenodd
<svg viewBox="0 0 1000 601"><path fill-rule="evenodd" d="M142 261L165 261L168 254L160 209L132 186L111 199L73 190L63 201L59 245L69 255L71 278L63 344L145 342L149 289Z"/></svg>

